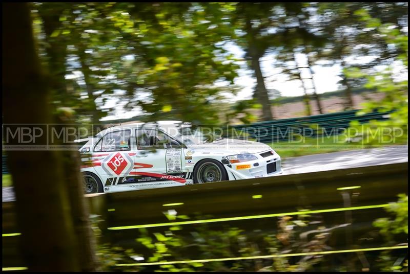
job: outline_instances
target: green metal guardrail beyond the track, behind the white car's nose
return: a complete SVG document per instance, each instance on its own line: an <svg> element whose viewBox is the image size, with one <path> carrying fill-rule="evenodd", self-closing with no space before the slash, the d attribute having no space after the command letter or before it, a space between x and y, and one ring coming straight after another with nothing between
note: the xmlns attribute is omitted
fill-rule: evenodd
<svg viewBox="0 0 410 274"><path fill-rule="evenodd" d="M357 115L360 111L360 109L355 109L300 118L258 122L249 125L235 125L232 128L236 132L248 133L249 137L257 142L273 143L291 140L293 133L312 138L317 138L324 134L327 136L336 135L348 128L352 121L359 121L359 123L363 124L371 120L388 120L389 114L394 112L394 110L386 112L375 110L364 115ZM229 135L227 134L227 136Z"/></svg>

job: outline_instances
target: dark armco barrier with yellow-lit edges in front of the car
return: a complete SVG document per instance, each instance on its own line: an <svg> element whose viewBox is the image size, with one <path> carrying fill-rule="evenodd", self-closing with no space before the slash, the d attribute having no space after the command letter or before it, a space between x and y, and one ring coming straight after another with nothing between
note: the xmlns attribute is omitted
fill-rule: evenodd
<svg viewBox="0 0 410 274"><path fill-rule="evenodd" d="M160 231L179 224L189 231L195 224L207 223L215 230L230 224L263 231L268 225L276 226L272 221L276 217L309 214L320 217L326 226L345 224L331 241L346 249L352 243L380 247L377 239L363 235L374 230L372 222L386 216L388 203L397 201L397 195L407 189L407 163L400 163L94 194L87 195L87 200L91 213L104 220L100 227L109 241L127 247L136 244L139 227ZM168 210L189 218L169 220L164 214ZM352 243L345 242L346 229L351 230ZM24 265L18 256L18 233L14 202L4 202L3 267Z"/></svg>

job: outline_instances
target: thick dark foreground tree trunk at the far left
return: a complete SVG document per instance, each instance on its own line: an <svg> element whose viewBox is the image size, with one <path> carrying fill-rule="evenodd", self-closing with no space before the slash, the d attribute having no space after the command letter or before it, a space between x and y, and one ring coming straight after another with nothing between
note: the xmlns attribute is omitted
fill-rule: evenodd
<svg viewBox="0 0 410 274"><path fill-rule="evenodd" d="M5 124L52 123L49 88L35 52L27 3L3 3L3 99ZM35 144L46 144L46 135ZM8 156L25 266L30 271L79 271L59 151L10 150Z"/></svg>

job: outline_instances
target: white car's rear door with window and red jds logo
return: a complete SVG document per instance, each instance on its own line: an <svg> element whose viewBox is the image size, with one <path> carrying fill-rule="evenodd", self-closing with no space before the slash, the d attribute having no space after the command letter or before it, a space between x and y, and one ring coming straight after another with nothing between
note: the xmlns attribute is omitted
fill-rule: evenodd
<svg viewBox="0 0 410 274"><path fill-rule="evenodd" d="M106 187L116 185L120 177L134 168L131 129L107 132L95 145L92 163Z"/></svg>

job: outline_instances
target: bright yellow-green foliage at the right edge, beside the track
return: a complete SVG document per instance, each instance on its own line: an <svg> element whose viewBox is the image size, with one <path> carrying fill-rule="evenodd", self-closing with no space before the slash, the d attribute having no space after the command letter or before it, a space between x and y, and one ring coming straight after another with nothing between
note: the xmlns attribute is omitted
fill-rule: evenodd
<svg viewBox="0 0 410 274"><path fill-rule="evenodd" d="M390 24L381 24L380 19L371 17L364 9L357 10L355 15L360 16L360 21L364 22L367 28L373 29L376 32L373 34L374 37L383 37L387 44L403 51L394 60L401 62L401 65L404 67L401 73L407 72L407 35L401 34L395 28L391 28L392 25ZM364 145L371 146L406 144L408 131L408 80L397 80L396 74L393 72L393 66L388 66L382 72L373 72L371 74L357 68L346 71L346 75L353 78L362 77L366 73L368 82L365 87L375 89L378 93L382 93L384 97L380 102L367 102L363 104L364 112L362 113L372 112L375 108L378 108L379 111L395 110L395 112L390 115L387 121L371 121L366 125L352 122L351 128L355 129L355 135L352 137L359 137Z"/></svg>

